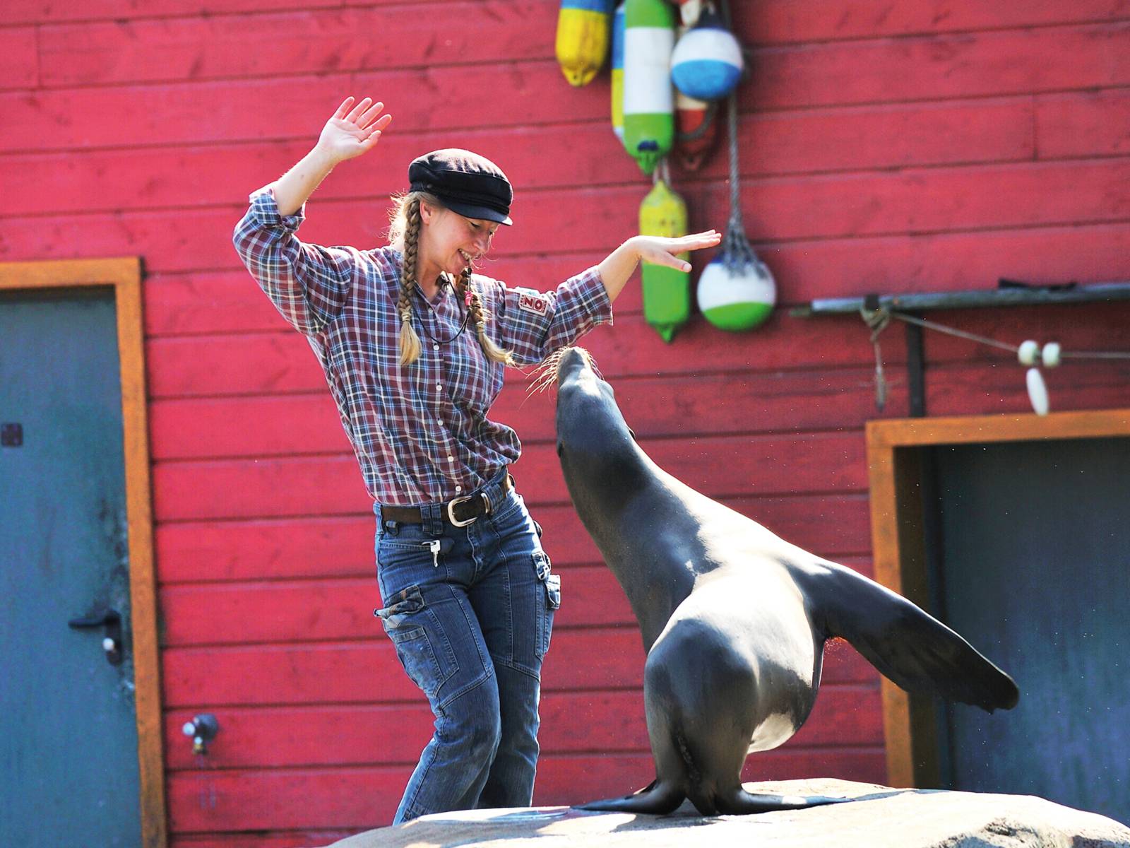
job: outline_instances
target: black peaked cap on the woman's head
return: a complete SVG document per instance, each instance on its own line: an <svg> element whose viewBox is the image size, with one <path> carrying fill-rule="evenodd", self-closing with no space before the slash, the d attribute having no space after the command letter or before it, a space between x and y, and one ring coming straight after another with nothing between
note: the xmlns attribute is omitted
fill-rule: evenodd
<svg viewBox="0 0 1130 848"><path fill-rule="evenodd" d="M435 194L443 205L468 218L499 224L510 219L514 191L496 164L470 150L449 147L426 153L408 166L409 191Z"/></svg>

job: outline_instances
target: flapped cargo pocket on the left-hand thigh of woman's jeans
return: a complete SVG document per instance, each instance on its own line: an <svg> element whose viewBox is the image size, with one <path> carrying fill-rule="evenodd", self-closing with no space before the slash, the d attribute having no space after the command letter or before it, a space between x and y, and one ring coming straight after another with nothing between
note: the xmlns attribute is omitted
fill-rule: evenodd
<svg viewBox="0 0 1130 848"><path fill-rule="evenodd" d="M383 609L374 609L397 648L397 658L428 700L458 669L440 617L424 604L418 586L410 586Z"/></svg>

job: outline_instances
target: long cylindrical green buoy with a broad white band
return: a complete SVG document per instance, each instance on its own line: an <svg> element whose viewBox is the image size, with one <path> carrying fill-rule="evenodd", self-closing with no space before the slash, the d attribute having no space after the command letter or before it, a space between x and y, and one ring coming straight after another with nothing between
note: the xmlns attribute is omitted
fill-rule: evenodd
<svg viewBox="0 0 1130 848"><path fill-rule="evenodd" d="M624 146L645 174L675 141L671 50L675 15L666 0L626 0L624 8Z"/></svg>

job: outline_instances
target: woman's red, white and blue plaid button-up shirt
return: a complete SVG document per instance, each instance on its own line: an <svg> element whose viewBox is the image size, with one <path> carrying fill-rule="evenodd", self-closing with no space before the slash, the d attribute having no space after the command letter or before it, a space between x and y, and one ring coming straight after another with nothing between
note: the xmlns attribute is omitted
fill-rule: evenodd
<svg viewBox="0 0 1130 848"><path fill-rule="evenodd" d="M483 353L450 287L432 304L412 292L420 358L399 363L400 253L305 244L305 205L282 217L270 188L251 194L235 249L282 317L306 336L325 372L365 487L379 503L417 505L475 491L521 455L518 434L489 421L503 365ZM471 277L487 331L515 362L541 362L599 323L611 302L596 267L539 293Z"/></svg>

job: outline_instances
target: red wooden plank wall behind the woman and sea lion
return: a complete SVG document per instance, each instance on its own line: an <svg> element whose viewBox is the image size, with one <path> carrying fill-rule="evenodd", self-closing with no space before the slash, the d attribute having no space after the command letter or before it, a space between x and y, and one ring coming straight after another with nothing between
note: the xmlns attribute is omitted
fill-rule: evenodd
<svg viewBox="0 0 1130 848"><path fill-rule="evenodd" d="M1130 279L1130 2L759 0L740 92L742 205L785 304L869 292ZM280 8L281 7L281 8ZM372 617L373 519L305 341L242 269L247 191L345 94L384 99L376 150L315 194L303 236L368 245L420 152L471 147L518 187L487 272L549 287L633 234L649 182L608 124L607 72L567 86L549 0L7 0L0 21L0 260L139 254L175 846L323 843L386 823L429 735ZM675 172L693 225L723 228L724 155ZM701 267L702 258L696 260ZM1014 344L1127 349L1127 306L941 320ZM902 331L883 339L907 413ZM862 425L877 412L858 320L666 346L637 286L586 339L646 450L786 538L867 572ZM1026 409L1002 352L927 336L930 414ZM1125 364L1048 374L1058 409L1125 405ZM642 649L574 518L551 399L515 373L496 407L564 576L545 669L536 801L651 778ZM215 712L203 760L180 733ZM750 778L885 779L878 677L832 650L810 722Z"/></svg>

